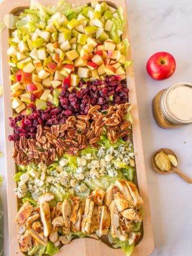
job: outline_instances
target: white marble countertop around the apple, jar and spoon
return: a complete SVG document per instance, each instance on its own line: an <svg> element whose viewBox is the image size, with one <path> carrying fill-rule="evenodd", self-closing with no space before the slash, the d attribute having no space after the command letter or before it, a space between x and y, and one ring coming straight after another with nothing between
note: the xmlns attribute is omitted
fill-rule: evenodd
<svg viewBox="0 0 192 256"><path fill-rule="evenodd" d="M192 2L191 0L126 0L126 2L153 223L155 249L152 255L190 256L192 185L174 173L160 175L154 172L150 161L155 150L171 148L177 154L180 170L192 177L192 126L172 130L161 129L153 120L151 107L152 99L159 90L180 81L191 82ZM175 74L164 81L152 80L145 70L148 58L158 51L170 52L177 63ZM2 97L0 98L0 131L0 151L4 154ZM0 158L0 166L0 175L4 177L0 188L4 204L4 256L8 256L5 157Z"/></svg>

